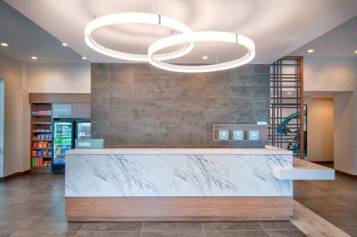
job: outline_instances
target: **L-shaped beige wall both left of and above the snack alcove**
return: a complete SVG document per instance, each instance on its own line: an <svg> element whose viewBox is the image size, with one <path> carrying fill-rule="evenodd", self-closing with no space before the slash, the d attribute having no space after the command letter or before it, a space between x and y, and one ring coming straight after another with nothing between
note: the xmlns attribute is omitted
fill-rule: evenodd
<svg viewBox="0 0 357 237"><path fill-rule="evenodd" d="M0 78L5 84L3 176L7 176L30 169L29 93L90 93L91 68L89 63L22 63L0 55Z"/></svg>

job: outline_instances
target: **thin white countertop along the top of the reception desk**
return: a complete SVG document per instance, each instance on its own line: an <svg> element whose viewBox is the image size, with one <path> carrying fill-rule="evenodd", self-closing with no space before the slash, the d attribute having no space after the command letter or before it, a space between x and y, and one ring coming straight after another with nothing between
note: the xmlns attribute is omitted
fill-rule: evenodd
<svg viewBox="0 0 357 237"><path fill-rule="evenodd" d="M101 154L293 154L271 146L261 149L71 149L66 155Z"/></svg>

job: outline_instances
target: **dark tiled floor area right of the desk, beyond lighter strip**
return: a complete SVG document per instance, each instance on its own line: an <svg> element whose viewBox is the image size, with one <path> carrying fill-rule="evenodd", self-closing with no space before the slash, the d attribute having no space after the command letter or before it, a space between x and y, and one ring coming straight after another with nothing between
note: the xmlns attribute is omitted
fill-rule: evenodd
<svg viewBox="0 0 357 237"><path fill-rule="evenodd" d="M351 236L357 237L357 179L296 181L294 199Z"/></svg>

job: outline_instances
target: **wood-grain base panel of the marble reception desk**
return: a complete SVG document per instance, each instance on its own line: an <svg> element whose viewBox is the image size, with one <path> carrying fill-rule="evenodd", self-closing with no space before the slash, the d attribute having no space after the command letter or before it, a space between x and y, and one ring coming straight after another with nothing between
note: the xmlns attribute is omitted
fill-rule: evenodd
<svg viewBox="0 0 357 237"><path fill-rule="evenodd" d="M291 196L66 197L70 221L287 220Z"/></svg>

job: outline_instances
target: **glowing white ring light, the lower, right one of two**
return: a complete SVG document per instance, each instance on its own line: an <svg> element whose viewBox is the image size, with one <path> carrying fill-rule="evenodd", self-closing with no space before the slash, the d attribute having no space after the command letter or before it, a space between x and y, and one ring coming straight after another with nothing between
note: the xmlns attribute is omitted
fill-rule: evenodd
<svg viewBox="0 0 357 237"><path fill-rule="evenodd" d="M248 49L248 53L241 58L231 60L226 63L217 63L211 65L174 65L169 63L163 63L160 60L159 55L154 55L156 52L161 51L164 48L176 46L181 43L192 42L225 42L234 43L244 46ZM229 68L236 68L240 65L250 62L254 56L256 56L254 42L246 37L237 33L224 32L224 31L196 31L192 33L181 33L175 36L169 36L161 38L159 41L154 42L149 46L149 63L164 70L170 70L178 73L205 73L214 72L218 70L226 70Z"/></svg>

